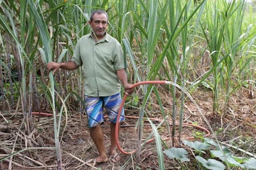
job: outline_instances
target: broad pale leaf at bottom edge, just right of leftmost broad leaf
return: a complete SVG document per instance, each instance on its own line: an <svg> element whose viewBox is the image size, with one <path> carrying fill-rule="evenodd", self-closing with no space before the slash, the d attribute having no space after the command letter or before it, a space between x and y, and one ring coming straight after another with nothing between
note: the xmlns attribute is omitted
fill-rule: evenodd
<svg viewBox="0 0 256 170"><path fill-rule="evenodd" d="M213 159L205 160L201 156L195 156L195 158L197 159L198 162L202 163L202 165L207 169L221 170L226 168L226 166L224 166L223 163L217 160L213 160Z"/></svg>

